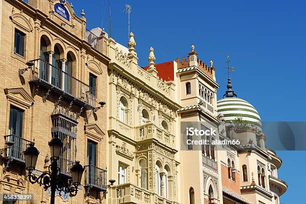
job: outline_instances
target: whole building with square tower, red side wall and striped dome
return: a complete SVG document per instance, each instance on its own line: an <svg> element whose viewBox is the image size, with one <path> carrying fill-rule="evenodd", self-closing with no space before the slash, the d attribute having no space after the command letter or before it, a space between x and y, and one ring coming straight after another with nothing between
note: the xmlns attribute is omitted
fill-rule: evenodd
<svg viewBox="0 0 306 204"><path fill-rule="evenodd" d="M277 177L281 159L265 146L260 116L247 101L234 97L228 78L227 91L217 101L212 60L205 65L194 46L188 57L155 64L160 77L176 72L177 97L182 106L177 115L181 138L186 126L217 130L218 139L239 140L239 145L180 145L181 203L279 204L287 183ZM183 127L183 128L182 128ZM191 138L192 139L192 138ZM194 138L195 139L195 138ZM179 142L185 142L181 139Z"/></svg>

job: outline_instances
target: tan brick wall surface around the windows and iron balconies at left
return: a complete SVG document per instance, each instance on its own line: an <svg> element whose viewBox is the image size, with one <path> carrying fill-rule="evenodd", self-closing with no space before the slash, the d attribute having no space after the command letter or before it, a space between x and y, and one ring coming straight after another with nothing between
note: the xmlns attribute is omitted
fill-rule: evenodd
<svg viewBox="0 0 306 204"><path fill-rule="evenodd" d="M53 88L47 95L47 88L30 82L33 76L30 69L20 76L18 69L26 68L25 62L40 57L41 38L46 39L47 51L50 53L54 51L55 45L61 48L60 59L62 61L67 60L68 53L72 56L72 76L79 80L78 83L88 85L89 73L96 76L96 107L99 106L99 101L106 101L105 92L107 91L106 76L109 59L106 56L106 44L103 45L103 41L106 40L100 37L98 40L101 45L100 51L94 49L85 41L85 17L78 17L72 7L65 3L64 6L70 15L70 20L67 21L54 12L55 3L59 3L59 0L54 0L54 2L28 0L28 3L21 0L0 0L0 105L2 107L0 109L0 148L5 146L4 135L9 134L10 107L16 107L22 111L22 139L34 141L35 147L40 152L36 164L38 174L45 169L44 159L47 154L49 155L51 114L61 93L55 93ZM65 22L65 25L62 22ZM15 29L25 34L24 56L14 53ZM38 65L34 64L31 68L36 66ZM73 81L77 81L76 79ZM72 83L71 89L75 84ZM82 91L81 87L79 88L75 92L80 91L81 93L78 93L82 94L81 100L86 100L87 93ZM46 95L44 101L43 97ZM69 114L76 115L81 110L77 101L76 98L69 109L71 100L62 97L56 108L57 110L63 108L64 112L68 108ZM87 140L91 140L97 143L96 166L103 169L106 167L106 108L107 105L104 105L96 112L88 108L88 110L81 111L77 119L76 160L80 160L83 166L87 164ZM30 184L24 179L24 162L17 163L13 159L9 162L6 171L2 172L2 168L7 164L5 153L0 157L0 193L32 193L34 197L32 203L48 203L49 193L44 191L42 186ZM88 196L84 196L87 190L84 187L84 180L85 171L77 195L66 199L56 195L56 203L99 202L101 193L94 189L90 190Z"/></svg>

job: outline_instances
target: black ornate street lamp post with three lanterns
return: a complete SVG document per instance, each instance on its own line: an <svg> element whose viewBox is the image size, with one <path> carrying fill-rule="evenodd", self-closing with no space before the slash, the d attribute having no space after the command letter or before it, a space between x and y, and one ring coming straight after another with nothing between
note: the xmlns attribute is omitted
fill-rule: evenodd
<svg viewBox="0 0 306 204"><path fill-rule="evenodd" d="M49 141L50 146L50 159L51 164L48 167L48 171L43 172L38 177L32 173L35 169L35 165L37 162L39 151L34 144L31 143L24 151L24 160L25 160L25 169L27 170L27 177L29 178L30 183L38 183L39 185L43 185L44 190L47 190L48 187L51 188L51 200L50 204L54 204L55 199L55 191L58 190L60 192L69 193L70 196L75 196L77 193L77 186L80 185L82 174L83 174L83 166L76 161L71 167L71 177L66 178L59 174L59 167L57 161L59 159L60 150L62 147L61 140L54 136L51 141Z"/></svg>

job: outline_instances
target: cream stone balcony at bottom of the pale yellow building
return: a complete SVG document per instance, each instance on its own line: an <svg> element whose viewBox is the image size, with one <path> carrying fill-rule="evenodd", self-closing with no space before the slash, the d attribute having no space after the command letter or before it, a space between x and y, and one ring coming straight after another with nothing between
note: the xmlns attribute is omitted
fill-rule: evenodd
<svg viewBox="0 0 306 204"><path fill-rule="evenodd" d="M177 203L131 183L124 183L111 187L110 197L112 197L111 203Z"/></svg>

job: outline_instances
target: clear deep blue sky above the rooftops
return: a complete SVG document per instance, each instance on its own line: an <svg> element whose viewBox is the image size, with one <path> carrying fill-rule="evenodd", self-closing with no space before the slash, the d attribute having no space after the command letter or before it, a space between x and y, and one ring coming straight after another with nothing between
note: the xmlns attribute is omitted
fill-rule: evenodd
<svg viewBox="0 0 306 204"><path fill-rule="evenodd" d="M103 22L108 32L108 1L72 3L78 15L84 8L87 28ZM112 38L123 45L128 41L127 14L122 12L126 3L132 6L131 31L140 65L147 65L150 46L159 63L186 56L193 43L203 62L214 61L220 98L229 54L236 68L231 74L233 89L256 107L262 121L304 121L304 0L111 0ZM306 151L277 154L283 159L278 176L289 184L281 202L304 202L301 183L306 175L300 169L306 168Z"/></svg>

